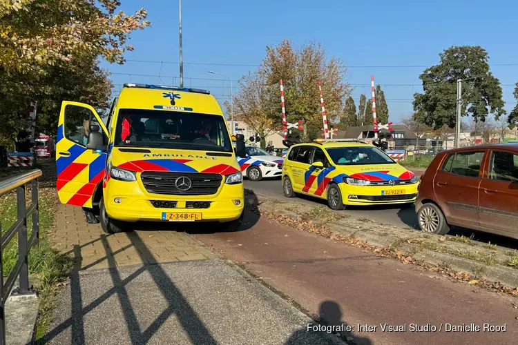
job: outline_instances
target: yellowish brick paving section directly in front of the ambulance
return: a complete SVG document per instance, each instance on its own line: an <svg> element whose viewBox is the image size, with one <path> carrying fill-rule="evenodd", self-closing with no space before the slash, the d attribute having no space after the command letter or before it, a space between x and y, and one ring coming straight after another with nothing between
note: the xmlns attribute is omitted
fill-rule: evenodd
<svg viewBox="0 0 518 345"><path fill-rule="evenodd" d="M128 233L106 234L99 224L86 223L80 207L61 204L55 224L52 243L57 250L75 257L76 268L81 270L218 257L186 233L168 230L160 223L144 224L145 228Z"/></svg>

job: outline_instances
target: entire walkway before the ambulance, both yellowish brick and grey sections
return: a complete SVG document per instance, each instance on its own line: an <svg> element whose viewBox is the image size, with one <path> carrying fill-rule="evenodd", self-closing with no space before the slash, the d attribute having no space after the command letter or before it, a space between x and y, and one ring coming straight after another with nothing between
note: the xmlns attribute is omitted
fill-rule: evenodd
<svg viewBox="0 0 518 345"><path fill-rule="evenodd" d="M83 217L59 208L52 242L76 263L41 344L332 344L178 224L108 235ZM242 233L253 224L245 217Z"/></svg>

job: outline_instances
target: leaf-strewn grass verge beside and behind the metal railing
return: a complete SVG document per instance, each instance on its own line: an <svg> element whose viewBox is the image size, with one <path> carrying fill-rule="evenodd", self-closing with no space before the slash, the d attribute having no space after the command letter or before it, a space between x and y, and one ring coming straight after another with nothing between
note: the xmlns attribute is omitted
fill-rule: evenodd
<svg viewBox="0 0 518 345"><path fill-rule="evenodd" d="M44 172L45 174L45 172ZM27 185L29 186L29 185ZM40 184L41 186L41 184ZM30 188L27 188L27 204L30 205ZM55 187L39 188L39 245L30 249L29 282L39 295L39 317L37 321L36 337L39 339L45 334L52 321L52 308L57 295L58 285L73 266L70 257L59 253L48 242L48 231L52 227L57 207L57 193ZM17 219L16 193L8 193L0 197L0 221L2 235ZM32 217L27 219L28 237L32 233ZM18 259L17 236L3 253L4 279L9 275Z"/></svg>

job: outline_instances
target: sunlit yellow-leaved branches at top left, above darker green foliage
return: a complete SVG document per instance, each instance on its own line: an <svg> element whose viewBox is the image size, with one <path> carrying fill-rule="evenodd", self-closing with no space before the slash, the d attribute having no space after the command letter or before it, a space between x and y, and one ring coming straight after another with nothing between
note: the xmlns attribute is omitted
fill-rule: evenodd
<svg viewBox="0 0 518 345"><path fill-rule="evenodd" d="M99 6L100 5L100 6ZM149 26L143 8L133 16L118 0L3 0L0 5L1 70L43 72L81 55L124 62L128 34Z"/></svg>

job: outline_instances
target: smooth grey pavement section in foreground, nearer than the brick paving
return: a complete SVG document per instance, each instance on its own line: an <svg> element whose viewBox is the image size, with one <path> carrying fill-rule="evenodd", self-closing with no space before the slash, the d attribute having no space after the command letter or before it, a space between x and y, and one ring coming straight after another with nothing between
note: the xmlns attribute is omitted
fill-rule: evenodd
<svg viewBox="0 0 518 345"><path fill-rule="evenodd" d="M247 277L217 259L86 271L61 293L44 342L332 344Z"/></svg>

